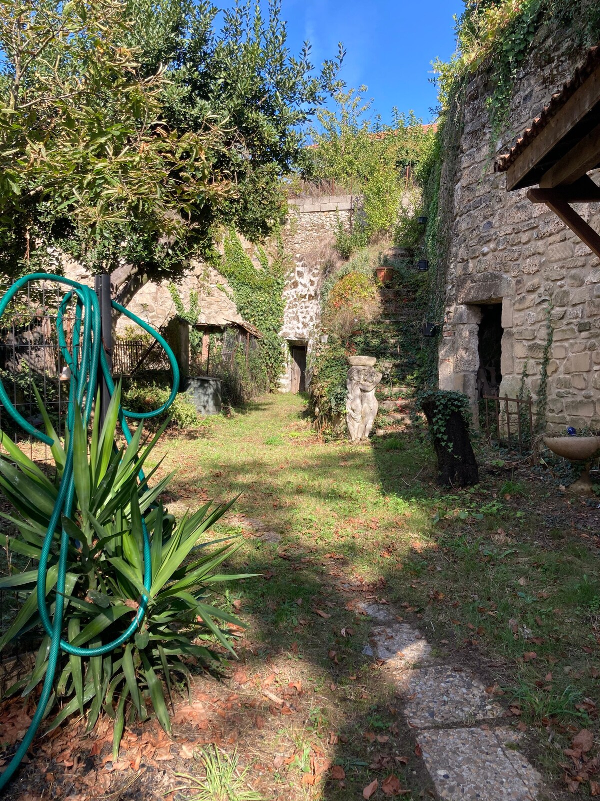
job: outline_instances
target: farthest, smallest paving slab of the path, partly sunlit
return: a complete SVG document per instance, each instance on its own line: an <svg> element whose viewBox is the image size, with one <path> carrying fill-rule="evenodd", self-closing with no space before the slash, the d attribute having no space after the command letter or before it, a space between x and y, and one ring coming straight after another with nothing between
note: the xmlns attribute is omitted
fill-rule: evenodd
<svg viewBox="0 0 600 801"><path fill-rule="evenodd" d="M370 604L364 609L378 622L370 630L371 649L375 656L388 662L388 667L406 670L411 665L422 665L431 661L431 646L420 631L408 623L396 620L380 604Z"/></svg>

